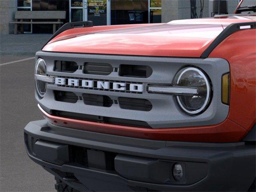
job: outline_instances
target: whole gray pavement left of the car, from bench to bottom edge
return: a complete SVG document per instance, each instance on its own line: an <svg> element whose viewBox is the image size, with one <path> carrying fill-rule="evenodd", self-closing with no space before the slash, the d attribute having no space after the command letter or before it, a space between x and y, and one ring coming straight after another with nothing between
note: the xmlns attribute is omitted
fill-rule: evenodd
<svg viewBox="0 0 256 192"><path fill-rule="evenodd" d="M0 191L55 191L54 176L26 154L23 128L42 119L34 99L34 57L50 35L6 35L0 41Z"/></svg>

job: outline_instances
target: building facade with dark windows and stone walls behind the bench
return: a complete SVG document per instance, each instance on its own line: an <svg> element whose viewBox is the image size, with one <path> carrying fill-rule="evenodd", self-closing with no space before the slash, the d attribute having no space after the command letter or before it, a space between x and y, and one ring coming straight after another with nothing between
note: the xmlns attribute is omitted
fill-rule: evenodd
<svg viewBox="0 0 256 192"><path fill-rule="evenodd" d="M98 25L169 22L191 18L196 7L198 17L208 17L209 0L0 0L0 30L12 34L15 11L63 10L66 22L93 21ZM232 13L239 0L228 0ZM26 33L51 33L52 25L27 24Z"/></svg>

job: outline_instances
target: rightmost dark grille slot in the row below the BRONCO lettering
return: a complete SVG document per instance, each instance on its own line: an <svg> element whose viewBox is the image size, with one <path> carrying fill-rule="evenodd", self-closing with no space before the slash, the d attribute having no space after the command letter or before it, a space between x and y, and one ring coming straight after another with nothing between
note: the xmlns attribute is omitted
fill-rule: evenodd
<svg viewBox="0 0 256 192"><path fill-rule="evenodd" d="M122 109L138 110L138 111L150 111L152 109L152 104L146 99L135 99L119 97L119 106Z"/></svg>

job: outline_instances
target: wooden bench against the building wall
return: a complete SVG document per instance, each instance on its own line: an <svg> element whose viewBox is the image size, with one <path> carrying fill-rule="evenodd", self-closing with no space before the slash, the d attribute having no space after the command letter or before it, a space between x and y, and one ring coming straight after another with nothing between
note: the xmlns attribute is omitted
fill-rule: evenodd
<svg viewBox="0 0 256 192"><path fill-rule="evenodd" d="M14 24L14 34L18 32L24 33L24 24L53 24L52 33L56 32L56 25L60 26L63 24L61 19L66 19L66 11L16 11L15 19L17 21L12 21L9 23ZM24 21L25 19L56 19L57 21ZM20 21L18 21L20 20ZM18 25L20 25L20 30L18 31Z"/></svg>

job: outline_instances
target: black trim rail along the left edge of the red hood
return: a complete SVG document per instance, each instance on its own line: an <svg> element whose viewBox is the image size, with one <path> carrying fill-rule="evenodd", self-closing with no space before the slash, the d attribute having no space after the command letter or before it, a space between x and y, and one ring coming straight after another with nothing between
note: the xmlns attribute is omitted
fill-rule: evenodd
<svg viewBox="0 0 256 192"><path fill-rule="evenodd" d="M50 37L50 39L46 42L46 44L48 44L48 42L50 42L54 37L61 34L62 32L69 30L69 29L80 28L80 27L93 27L93 22L92 21L78 21L78 22L66 23ZM46 46L46 44L44 44L44 46ZM44 48L44 46L42 48Z"/></svg>

